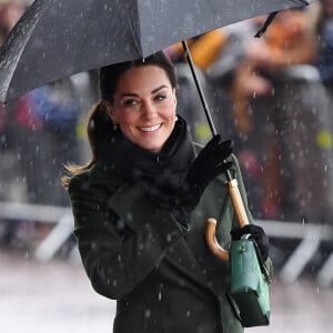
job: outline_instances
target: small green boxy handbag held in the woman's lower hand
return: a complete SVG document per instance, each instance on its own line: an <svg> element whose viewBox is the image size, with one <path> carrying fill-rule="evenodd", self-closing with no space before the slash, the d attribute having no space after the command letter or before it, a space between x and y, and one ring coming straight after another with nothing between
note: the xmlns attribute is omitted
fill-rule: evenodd
<svg viewBox="0 0 333 333"><path fill-rule="evenodd" d="M245 327L269 325L271 281L256 243L248 238L230 245L230 293Z"/></svg>

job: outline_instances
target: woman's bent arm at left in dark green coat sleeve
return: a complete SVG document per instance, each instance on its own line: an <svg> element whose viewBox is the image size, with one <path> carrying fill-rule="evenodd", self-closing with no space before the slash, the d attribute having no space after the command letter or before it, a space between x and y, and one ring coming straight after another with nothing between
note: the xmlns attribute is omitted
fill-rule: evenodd
<svg viewBox="0 0 333 333"><path fill-rule="evenodd" d="M88 176L69 185L82 263L93 289L110 299L130 293L184 233L167 212L155 210L138 188L110 198Z"/></svg>

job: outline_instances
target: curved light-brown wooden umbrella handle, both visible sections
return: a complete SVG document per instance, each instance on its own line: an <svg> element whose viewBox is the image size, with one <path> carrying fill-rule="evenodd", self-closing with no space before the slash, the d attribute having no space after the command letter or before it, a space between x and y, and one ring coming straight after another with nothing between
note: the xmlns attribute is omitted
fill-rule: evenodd
<svg viewBox="0 0 333 333"><path fill-rule="evenodd" d="M229 194L231 196L232 205L239 225L240 228L243 228L246 224L249 224L249 219L246 215L246 211L244 208L244 203L240 193L236 179L229 181L228 185L229 185ZM216 223L218 223L216 220L213 218L206 220L206 228L205 228L206 245L211 250L211 252L215 254L218 258L220 258L222 261L229 261L229 252L219 244L215 238Z"/></svg>

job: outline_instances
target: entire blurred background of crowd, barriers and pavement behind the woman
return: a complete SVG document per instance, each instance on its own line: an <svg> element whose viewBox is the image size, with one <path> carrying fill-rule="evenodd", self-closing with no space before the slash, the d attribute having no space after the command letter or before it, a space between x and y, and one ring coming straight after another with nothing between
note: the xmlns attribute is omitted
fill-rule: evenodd
<svg viewBox="0 0 333 333"><path fill-rule="evenodd" d="M0 0L0 44L32 1ZM271 240L272 324L333 325L333 0L259 17L189 40L216 130L234 141L249 204ZM181 44L179 113L195 141L210 129ZM0 104L0 320L3 332L110 332L114 302L95 294L72 236L60 176L90 160L85 117L98 72Z"/></svg>

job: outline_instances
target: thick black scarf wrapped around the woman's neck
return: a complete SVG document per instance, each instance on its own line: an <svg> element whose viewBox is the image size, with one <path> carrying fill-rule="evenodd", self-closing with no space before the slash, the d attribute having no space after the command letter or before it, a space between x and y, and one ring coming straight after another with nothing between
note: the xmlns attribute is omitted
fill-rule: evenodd
<svg viewBox="0 0 333 333"><path fill-rule="evenodd" d="M141 182L149 194L176 193L195 158L185 121L179 117L160 153L144 150L128 140L120 130L113 132L99 157L109 172L129 182Z"/></svg>

